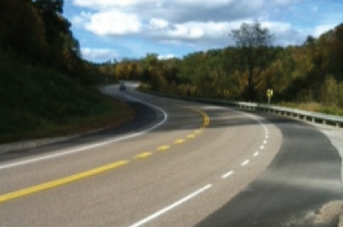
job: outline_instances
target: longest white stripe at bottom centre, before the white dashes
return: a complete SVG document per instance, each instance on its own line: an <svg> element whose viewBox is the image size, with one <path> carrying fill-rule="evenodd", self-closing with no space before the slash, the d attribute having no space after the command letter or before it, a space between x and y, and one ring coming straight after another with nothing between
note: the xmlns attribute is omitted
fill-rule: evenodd
<svg viewBox="0 0 343 227"><path fill-rule="evenodd" d="M144 219L141 219L141 221L136 222L135 224L132 224L129 227L142 226L143 224L146 224L147 222L152 221L152 219L156 219L156 217L163 215L167 211L170 211L171 209L176 208L176 206L180 206L181 204L187 202L188 200L191 200L191 198L196 197L200 193L203 193L207 189L210 189L212 186L213 186L212 184L207 184L202 189L199 189L198 191L195 191L195 192L191 193L190 195L187 195L185 198L182 198L181 200L178 200L177 202L174 202L174 204L171 204L170 206L166 206L161 211L157 211L156 213L154 213L154 214L152 214L152 215L150 215L148 217L145 217Z"/></svg>

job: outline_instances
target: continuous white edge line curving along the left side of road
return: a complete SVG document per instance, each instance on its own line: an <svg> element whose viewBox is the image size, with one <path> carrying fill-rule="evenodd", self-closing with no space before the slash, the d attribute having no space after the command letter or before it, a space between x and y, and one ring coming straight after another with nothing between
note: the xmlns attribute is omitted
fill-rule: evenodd
<svg viewBox="0 0 343 227"><path fill-rule="evenodd" d="M127 136L122 136L122 137L119 137L119 138L116 138L116 139L110 139L110 140L104 141L102 143L93 143L92 145L86 145L86 146L78 147L78 148L75 148L75 149L72 149L72 150L66 150L64 152L58 152L58 153L55 153L55 154L47 154L45 156L39 156L37 158L29 158L27 160L21 160L19 162L15 162L15 163L9 163L9 164L5 164L5 165L0 165L0 170L1 169L12 168L12 167L17 167L17 166L20 166L20 165L26 165L26 164L29 164L29 163L36 163L36 162L41 161L41 160L48 160L48 159L51 159L51 158L57 158L57 157L60 157L60 156L66 156L68 154L75 154L75 153L78 153L78 152L82 152L84 150L89 150L89 149L92 149L92 148L95 148L95 147L101 147L101 146L104 146L104 145L108 145L109 143L115 143L115 142L123 141L123 140L126 140L126 139L131 139L133 137L141 136L141 135L143 135L143 134L145 134L147 132L150 132L151 130L154 130L155 128L158 128L159 126L163 125L163 123L165 123L165 121L167 121L167 119L168 119L167 112L165 112L165 110L163 110L162 108L159 108L158 106L154 106L153 104L149 104L149 103L147 103L145 101L141 101L141 100L133 98L133 97L127 97L127 98L128 99L132 99L133 101L139 101L142 104L145 104L147 106L151 106L152 108L155 108L156 110L162 112L163 113L163 120L158 122L158 123L156 123L156 125L148 128L147 130L143 130L141 132L136 132L136 133L128 134Z"/></svg>

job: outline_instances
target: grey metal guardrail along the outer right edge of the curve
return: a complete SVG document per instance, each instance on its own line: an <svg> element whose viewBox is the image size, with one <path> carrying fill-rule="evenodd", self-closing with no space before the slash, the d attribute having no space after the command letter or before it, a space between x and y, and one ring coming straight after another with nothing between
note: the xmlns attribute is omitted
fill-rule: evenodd
<svg viewBox="0 0 343 227"><path fill-rule="evenodd" d="M265 112L272 112L275 114L283 115L286 117L294 117L296 119L302 119L304 121L311 121L313 123L322 123L324 125L335 126L337 128L343 128L343 117L335 115L325 115L318 112L310 112L305 110L298 110L294 108L287 108L281 106L270 106L265 104L256 104L244 101L226 101L220 99L202 99L195 97L181 97L178 95L164 95L161 93L152 93L155 95L161 95L164 97L174 97L183 100L199 101L202 103L218 104L222 106L233 106L235 108L243 108L246 110L261 110Z"/></svg>

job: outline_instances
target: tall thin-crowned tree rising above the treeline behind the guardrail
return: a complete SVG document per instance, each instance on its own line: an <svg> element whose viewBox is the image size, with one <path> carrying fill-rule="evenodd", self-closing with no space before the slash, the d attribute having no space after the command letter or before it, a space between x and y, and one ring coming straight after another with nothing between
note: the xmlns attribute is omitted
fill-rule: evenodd
<svg viewBox="0 0 343 227"><path fill-rule="evenodd" d="M246 98L249 101L256 99L256 80L268 66L268 47L272 45L274 36L269 29L262 28L259 22L243 23L239 29L233 29L230 36L235 40L239 51L239 71L247 73Z"/></svg>

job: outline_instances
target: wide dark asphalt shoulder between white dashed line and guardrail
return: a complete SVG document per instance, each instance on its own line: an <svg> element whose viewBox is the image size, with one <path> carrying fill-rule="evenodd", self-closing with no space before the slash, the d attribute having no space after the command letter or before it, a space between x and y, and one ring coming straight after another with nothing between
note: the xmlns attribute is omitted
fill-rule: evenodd
<svg viewBox="0 0 343 227"><path fill-rule="evenodd" d="M327 220L330 214L321 209L343 198L338 151L312 126L275 115L268 119L283 134L279 154L245 191L197 227L337 226L338 217Z"/></svg>

